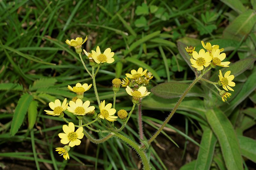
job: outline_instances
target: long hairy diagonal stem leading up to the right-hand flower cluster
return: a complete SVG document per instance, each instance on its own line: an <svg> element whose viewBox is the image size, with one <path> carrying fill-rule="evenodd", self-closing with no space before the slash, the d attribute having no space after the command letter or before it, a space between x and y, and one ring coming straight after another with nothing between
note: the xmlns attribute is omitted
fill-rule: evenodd
<svg viewBox="0 0 256 170"><path fill-rule="evenodd" d="M153 142L153 140L161 133L161 131L164 129L165 125L169 122L169 120L172 118L176 110L178 109L180 103L185 98L185 96L188 94L189 90L203 77L203 75L208 72L212 67L209 67L209 69L202 72L200 76L198 76L194 81L188 86L188 88L185 90L185 92L181 95L180 99L176 103L176 105L173 107L172 112L168 115L168 117L164 120L164 123L161 125L161 127L156 131L156 133L148 140L148 144ZM145 148L145 145L142 146L142 148Z"/></svg>

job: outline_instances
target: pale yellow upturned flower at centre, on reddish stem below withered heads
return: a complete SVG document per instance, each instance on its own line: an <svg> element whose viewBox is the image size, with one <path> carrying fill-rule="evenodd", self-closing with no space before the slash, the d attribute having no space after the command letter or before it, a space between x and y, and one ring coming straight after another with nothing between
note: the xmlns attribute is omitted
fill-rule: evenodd
<svg viewBox="0 0 256 170"><path fill-rule="evenodd" d="M132 89L127 85L125 90L130 96L132 96L132 102L134 104L137 104L140 98L150 94L145 86L141 86L138 90L132 91Z"/></svg>

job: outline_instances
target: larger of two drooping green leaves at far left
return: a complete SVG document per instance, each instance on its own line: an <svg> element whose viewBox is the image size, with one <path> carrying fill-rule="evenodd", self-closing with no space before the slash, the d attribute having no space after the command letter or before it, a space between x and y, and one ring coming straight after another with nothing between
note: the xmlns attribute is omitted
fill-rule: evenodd
<svg viewBox="0 0 256 170"><path fill-rule="evenodd" d="M12 125L10 130L12 136L17 133L21 124L23 123L24 117L28 111L28 107L32 100L33 96L28 93L24 93L21 95L12 118Z"/></svg>

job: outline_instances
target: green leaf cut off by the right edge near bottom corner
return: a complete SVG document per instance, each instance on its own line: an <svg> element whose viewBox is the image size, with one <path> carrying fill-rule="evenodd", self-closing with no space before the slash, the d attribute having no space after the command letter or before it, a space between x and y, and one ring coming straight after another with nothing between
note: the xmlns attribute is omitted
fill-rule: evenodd
<svg viewBox="0 0 256 170"><path fill-rule="evenodd" d="M256 140L250 137L238 136L242 155L256 163Z"/></svg>

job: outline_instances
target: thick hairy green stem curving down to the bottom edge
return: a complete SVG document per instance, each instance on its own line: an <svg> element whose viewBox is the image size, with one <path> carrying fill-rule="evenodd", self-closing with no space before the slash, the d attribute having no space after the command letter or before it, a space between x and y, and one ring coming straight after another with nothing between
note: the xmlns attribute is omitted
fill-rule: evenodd
<svg viewBox="0 0 256 170"><path fill-rule="evenodd" d="M146 155L145 152L143 152L142 150L140 150L140 147L138 144L136 144L135 142L133 142L131 139L129 139L128 137L125 137L123 135L121 135L120 133L117 132L113 132L115 134L116 137L118 137L119 139L121 139L122 141L124 141L126 144L132 146L133 149L136 150L136 152L139 154L140 159L142 161L143 164L143 169L145 170L149 170L150 169L150 165L149 165L149 161L148 161L148 157Z"/></svg>

